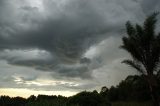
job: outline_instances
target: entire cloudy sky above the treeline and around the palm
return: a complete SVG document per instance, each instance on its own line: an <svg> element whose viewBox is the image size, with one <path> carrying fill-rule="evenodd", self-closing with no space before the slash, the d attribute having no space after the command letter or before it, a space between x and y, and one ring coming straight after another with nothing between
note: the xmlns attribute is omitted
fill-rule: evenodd
<svg viewBox="0 0 160 106"><path fill-rule="evenodd" d="M159 10L159 0L0 0L0 95L71 96L139 74L121 63L125 23Z"/></svg>

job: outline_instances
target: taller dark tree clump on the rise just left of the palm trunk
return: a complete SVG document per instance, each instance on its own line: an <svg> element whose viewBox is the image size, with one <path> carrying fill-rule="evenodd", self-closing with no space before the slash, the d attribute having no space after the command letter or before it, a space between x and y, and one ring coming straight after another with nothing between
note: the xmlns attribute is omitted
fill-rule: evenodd
<svg viewBox="0 0 160 106"><path fill-rule="evenodd" d="M119 85L112 86L109 89L107 88L105 92L101 91L100 94L111 102L150 101L151 97L148 83L143 77L143 75L128 76L125 80L122 80ZM160 82L159 79L158 81ZM158 87L160 88L160 85ZM160 89L158 92L160 92Z"/></svg>

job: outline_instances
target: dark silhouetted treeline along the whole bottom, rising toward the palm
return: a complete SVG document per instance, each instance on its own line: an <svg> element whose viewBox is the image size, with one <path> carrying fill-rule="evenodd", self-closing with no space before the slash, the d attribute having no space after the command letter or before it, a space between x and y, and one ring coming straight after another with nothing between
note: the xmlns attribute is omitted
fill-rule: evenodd
<svg viewBox="0 0 160 106"><path fill-rule="evenodd" d="M27 99L1 96L0 106L152 106L146 83L143 76L135 75L128 76L117 86L104 86L99 93L83 91L71 97L31 95ZM160 85L160 80L158 83Z"/></svg>

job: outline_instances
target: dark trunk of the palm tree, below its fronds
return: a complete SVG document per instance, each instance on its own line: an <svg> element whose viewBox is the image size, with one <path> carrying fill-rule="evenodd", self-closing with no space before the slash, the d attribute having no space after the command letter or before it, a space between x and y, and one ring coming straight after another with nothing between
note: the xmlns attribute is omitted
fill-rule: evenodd
<svg viewBox="0 0 160 106"><path fill-rule="evenodd" d="M159 94L158 94L158 83L154 75L148 76L148 84L150 88L150 94L153 101L153 106L160 106Z"/></svg>

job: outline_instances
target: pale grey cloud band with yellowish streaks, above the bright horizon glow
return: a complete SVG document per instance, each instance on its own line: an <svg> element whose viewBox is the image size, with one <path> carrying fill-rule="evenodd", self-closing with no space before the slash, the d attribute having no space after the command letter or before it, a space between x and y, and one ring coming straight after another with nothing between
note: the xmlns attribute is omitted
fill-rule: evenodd
<svg viewBox="0 0 160 106"><path fill-rule="evenodd" d="M9 64L1 62L0 84L1 88L27 88L34 90L55 90L55 91L77 91L81 89L91 89L97 82L90 80L60 78L53 79L50 74L41 71L34 71L30 68L14 68ZM14 70L12 70L14 68ZM23 71L22 71L23 70ZM31 74L32 73L32 74Z"/></svg>

